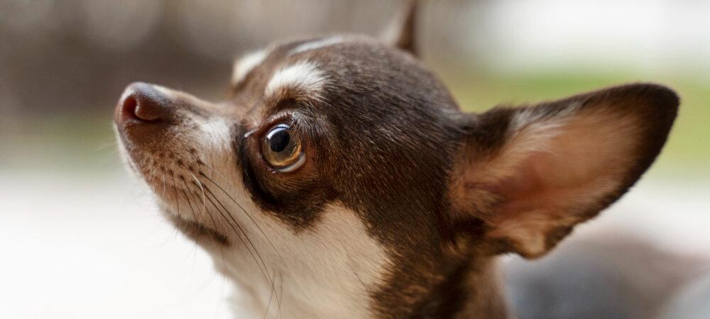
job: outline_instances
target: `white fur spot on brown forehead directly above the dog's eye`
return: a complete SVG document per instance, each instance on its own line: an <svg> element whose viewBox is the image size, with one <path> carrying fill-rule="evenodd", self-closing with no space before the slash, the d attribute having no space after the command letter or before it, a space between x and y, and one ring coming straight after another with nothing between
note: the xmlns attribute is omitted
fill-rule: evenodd
<svg viewBox="0 0 710 319"><path fill-rule="evenodd" d="M326 82L326 74L315 64L301 61L276 71L266 84L264 94L273 96L280 89L300 89L315 99L319 99Z"/></svg>

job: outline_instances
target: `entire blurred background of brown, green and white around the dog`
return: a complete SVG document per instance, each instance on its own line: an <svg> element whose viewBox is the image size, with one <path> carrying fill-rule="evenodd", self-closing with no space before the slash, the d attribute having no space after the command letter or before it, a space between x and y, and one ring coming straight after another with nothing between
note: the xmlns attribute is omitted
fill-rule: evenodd
<svg viewBox="0 0 710 319"><path fill-rule="evenodd" d="M234 57L378 35L395 0L0 0L0 318L229 318L231 287L119 161L112 112L154 82L222 99ZM710 1L424 1L422 59L462 108L623 82L682 97L635 189L536 262L518 318L710 318ZM518 311L518 310L524 311Z"/></svg>

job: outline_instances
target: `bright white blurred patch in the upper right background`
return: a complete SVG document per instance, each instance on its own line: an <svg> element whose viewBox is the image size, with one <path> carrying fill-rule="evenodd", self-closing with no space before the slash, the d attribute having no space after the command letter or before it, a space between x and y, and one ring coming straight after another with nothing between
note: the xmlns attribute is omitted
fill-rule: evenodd
<svg viewBox="0 0 710 319"><path fill-rule="evenodd" d="M503 61L503 68L710 69L706 59L710 1L502 0L490 4L484 36L491 43L486 54Z"/></svg>

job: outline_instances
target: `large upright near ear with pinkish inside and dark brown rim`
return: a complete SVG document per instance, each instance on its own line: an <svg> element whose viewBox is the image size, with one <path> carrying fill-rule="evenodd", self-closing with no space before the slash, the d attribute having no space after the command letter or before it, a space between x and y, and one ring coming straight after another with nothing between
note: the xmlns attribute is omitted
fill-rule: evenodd
<svg viewBox="0 0 710 319"><path fill-rule="evenodd" d="M482 220L496 253L542 256L648 169L678 104L664 86L630 84L466 119L453 219Z"/></svg>

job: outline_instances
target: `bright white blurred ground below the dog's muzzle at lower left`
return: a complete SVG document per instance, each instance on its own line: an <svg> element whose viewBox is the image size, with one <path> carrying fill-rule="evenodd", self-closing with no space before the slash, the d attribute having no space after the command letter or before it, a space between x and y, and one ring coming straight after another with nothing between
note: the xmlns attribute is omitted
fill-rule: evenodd
<svg viewBox="0 0 710 319"><path fill-rule="evenodd" d="M0 174L0 318L230 318L212 260L115 177Z"/></svg>

